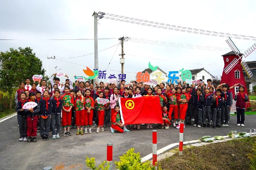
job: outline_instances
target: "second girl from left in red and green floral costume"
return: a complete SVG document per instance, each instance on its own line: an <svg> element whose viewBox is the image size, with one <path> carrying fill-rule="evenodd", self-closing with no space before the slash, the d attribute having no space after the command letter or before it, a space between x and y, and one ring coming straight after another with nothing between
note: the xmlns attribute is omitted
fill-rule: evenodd
<svg viewBox="0 0 256 170"><path fill-rule="evenodd" d="M84 96L81 90L76 92L75 110L76 110L76 135L84 135L83 126L85 125L85 110L84 110ZM80 128L80 130L79 130Z"/></svg>

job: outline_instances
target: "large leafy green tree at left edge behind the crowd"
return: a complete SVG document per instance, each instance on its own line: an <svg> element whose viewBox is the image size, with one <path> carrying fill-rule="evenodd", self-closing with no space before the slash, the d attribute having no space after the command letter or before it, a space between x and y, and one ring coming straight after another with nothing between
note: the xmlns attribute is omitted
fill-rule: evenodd
<svg viewBox="0 0 256 170"><path fill-rule="evenodd" d="M0 52L0 86L10 98L9 107L12 108L12 96L21 81L32 78L35 74L44 75L42 61L36 57L30 47L10 48L10 51Z"/></svg>

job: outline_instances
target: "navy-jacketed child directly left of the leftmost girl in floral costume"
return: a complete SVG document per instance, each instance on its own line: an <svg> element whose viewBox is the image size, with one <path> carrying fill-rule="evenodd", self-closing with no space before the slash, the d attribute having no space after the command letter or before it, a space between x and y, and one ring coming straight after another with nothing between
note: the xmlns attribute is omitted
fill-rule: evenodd
<svg viewBox="0 0 256 170"><path fill-rule="evenodd" d="M54 85L53 85L54 86ZM63 101L60 99L60 91L54 90L52 100L52 139L60 138L60 119ZM56 127L56 131L55 131Z"/></svg>

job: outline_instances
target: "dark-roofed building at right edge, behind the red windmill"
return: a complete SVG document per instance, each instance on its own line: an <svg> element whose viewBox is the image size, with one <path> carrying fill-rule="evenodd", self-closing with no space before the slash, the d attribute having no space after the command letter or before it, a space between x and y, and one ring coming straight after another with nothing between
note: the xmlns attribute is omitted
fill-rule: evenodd
<svg viewBox="0 0 256 170"><path fill-rule="evenodd" d="M248 65L249 69L252 71L252 77L248 78L247 74L243 69L244 80L246 83L246 87L250 89L252 92L252 86L256 85L256 61L249 61L249 62L246 62L246 64Z"/></svg>

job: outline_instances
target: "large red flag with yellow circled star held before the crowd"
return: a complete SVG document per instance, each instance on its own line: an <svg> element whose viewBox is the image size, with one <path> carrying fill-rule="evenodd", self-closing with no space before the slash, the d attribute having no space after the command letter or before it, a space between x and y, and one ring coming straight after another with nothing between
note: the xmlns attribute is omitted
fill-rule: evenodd
<svg viewBox="0 0 256 170"><path fill-rule="evenodd" d="M124 124L163 123L158 96L119 98L121 119Z"/></svg>

